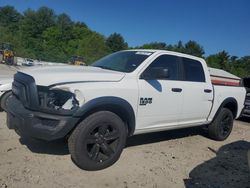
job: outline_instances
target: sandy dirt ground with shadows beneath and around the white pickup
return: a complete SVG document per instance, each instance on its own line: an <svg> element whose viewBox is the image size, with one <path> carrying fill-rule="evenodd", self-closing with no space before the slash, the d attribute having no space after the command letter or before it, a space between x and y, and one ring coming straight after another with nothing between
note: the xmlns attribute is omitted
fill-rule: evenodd
<svg viewBox="0 0 250 188"><path fill-rule="evenodd" d="M0 187L250 187L250 121L223 142L189 128L131 137L119 161L96 172L71 161L64 140L20 138L0 113Z"/></svg>

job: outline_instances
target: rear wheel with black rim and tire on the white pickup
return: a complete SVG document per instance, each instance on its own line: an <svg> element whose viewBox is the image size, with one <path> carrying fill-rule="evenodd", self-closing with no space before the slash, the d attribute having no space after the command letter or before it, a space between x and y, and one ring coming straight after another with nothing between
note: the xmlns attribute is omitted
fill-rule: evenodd
<svg viewBox="0 0 250 188"><path fill-rule="evenodd" d="M233 129L233 114L231 110L222 108L213 122L208 126L209 137L217 140L225 140Z"/></svg>

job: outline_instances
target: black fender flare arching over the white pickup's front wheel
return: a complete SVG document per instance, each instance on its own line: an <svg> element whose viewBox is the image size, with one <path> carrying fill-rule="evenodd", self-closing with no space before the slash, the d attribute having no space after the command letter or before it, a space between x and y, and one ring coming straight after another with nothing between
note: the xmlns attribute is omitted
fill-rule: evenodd
<svg viewBox="0 0 250 188"><path fill-rule="evenodd" d="M79 123L89 115L98 111L110 111L118 115L125 122L127 126L128 136L133 135L135 130L135 113L133 107L129 104L128 101L119 97L112 97L112 96L99 97L90 100L89 102L84 104L74 114L74 116L80 117L78 121Z"/></svg>

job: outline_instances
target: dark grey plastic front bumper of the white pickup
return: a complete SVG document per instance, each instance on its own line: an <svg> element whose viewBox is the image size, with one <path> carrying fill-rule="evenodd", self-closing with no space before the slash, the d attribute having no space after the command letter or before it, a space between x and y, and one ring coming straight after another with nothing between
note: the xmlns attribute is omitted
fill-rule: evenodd
<svg viewBox="0 0 250 188"><path fill-rule="evenodd" d="M51 115L26 109L13 95L6 100L7 126L21 135L42 140L65 137L77 124L79 118Z"/></svg>

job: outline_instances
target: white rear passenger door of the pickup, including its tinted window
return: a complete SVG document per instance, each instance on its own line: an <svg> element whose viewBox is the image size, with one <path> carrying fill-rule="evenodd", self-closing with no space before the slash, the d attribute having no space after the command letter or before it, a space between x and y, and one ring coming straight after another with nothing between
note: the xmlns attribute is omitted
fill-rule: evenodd
<svg viewBox="0 0 250 188"><path fill-rule="evenodd" d="M200 61L182 57L182 93L180 124L205 122L212 107L213 88L206 80Z"/></svg>

